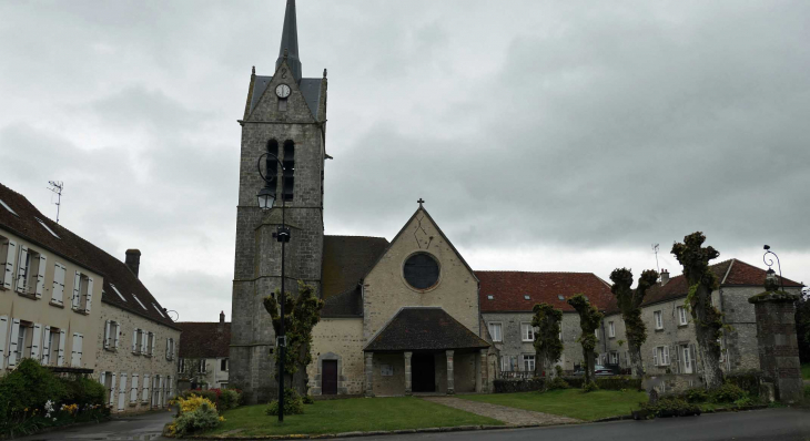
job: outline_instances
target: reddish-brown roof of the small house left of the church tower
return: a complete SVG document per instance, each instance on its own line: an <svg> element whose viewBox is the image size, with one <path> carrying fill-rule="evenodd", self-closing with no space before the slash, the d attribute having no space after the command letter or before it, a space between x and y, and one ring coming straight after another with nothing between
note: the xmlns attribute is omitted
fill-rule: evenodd
<svg viewBox="0 0 810 441"><path fill-rule="evenodd" d="M179 321L183 330L178 346L180 358L227 358L231 351L231 322ZM220 328L222 325L222 328Z"/></svg>

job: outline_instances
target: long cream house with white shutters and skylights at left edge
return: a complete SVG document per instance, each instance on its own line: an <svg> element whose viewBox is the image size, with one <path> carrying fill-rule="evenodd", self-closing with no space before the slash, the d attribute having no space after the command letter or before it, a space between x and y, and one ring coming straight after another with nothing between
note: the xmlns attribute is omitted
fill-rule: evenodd
<svg viewBox="0 0 810 441"><path fill-rule="evenodd" d="M0 201L3 281L18 285L0 290L3 366L31 357L58 372L92 375L113 412L165 407L180 328L139 280L140 252L128 250L123 263L3 185Z"/></svg>

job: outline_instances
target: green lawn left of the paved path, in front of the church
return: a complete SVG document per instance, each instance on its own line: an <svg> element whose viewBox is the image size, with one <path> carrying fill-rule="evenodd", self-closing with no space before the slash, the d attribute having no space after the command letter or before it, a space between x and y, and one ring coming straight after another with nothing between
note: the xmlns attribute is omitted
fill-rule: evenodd
<svg viewBox="0 0 810 441"><path fill-rule="evenodd" d="M414 397L351 398L315 401L304 407L306 413L279 417L264 414L266 404L245 406L224 413L225 422L205 434L231 432L237 435L295 433L340 433L371 430L397 430L453 425L504 423L490 418L436 404ZM239 430L239 432L236 432Z"/></svg>

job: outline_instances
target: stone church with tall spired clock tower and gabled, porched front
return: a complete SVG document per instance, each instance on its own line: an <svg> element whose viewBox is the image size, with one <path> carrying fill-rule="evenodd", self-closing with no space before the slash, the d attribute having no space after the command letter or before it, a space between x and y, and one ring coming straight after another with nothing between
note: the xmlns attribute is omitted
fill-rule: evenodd
<svg viewBox="0 0 810 441"><path fill-rule="evenodd" d="M482 391L492 345L482 321L478 279L419 199L388 242L324 235L326 70L304 78L295 1L288 0L272 75L251 74L242 120L233 278L230 384L250 402L277 389L275 335L262 299L281 285L282 209L262 211L256 164L276 155L272 184L285 206L291 240L285 284L302 280L325 300L313 332L310 393L392 396ZM279 170L270 164L267 175ZM290 289L287 288L287 291ZM489 373L487 373L489 372Z"/></svg>

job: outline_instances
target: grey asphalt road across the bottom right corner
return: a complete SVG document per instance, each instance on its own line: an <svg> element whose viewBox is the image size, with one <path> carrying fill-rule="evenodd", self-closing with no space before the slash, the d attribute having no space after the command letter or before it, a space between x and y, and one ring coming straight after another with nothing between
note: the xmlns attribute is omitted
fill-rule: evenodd
<svg viewBox="0 0 810 441"><path fill-rule="evenodd" d="M357 439L360 440L360 439ZM475 432L417 433L371 437L384 441L810 441L810 412L767 409L739 413L664 418L652 421L616 421L538 429L482 430Z"/></svg>

